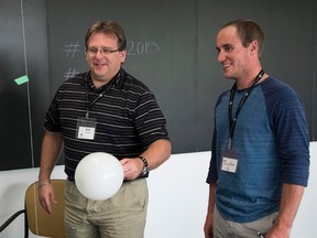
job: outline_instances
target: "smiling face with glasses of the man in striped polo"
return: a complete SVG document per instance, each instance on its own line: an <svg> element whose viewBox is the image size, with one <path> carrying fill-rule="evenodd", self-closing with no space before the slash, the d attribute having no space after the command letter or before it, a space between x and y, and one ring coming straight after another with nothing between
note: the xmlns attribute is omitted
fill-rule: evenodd
<svg viewBox="0 0 317 238"><path fill-rule="evenodd" d="M105 85L119 72L127 51L117 50L118 39L114 35L94 33L89 37L86 61L95 84Z"/></svg>

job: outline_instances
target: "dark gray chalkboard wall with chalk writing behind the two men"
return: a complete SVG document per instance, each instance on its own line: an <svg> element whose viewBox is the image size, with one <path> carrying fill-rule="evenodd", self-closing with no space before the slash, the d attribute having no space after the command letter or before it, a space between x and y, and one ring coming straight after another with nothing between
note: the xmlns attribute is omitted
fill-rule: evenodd
<svg viewBox="0 0 317 238"><path fill-rule="evenodd" d="M0 0L0 170L39 166L46 108L63 80L87 71L84 35L97 20L116 20L124 28L129 41L124 68L156 95L173 153L210 150L214 106L232 84L217 63L215 36L225 22L237 18L253 19L263 28L263 67L298 91L310 139L316 140L315 0L22 3L23 11L20 0ZM26 72L30 83L17 86L13 79Z"/></svg>

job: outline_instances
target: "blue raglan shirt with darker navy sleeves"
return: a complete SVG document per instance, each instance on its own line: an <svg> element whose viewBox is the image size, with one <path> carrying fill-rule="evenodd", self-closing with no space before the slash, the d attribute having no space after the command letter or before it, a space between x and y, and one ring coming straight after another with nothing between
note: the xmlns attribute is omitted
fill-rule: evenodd
<svg viewBox="0 0 317 238"><path fill-rule="evenodd" d="M233 115L245 91L236 91ZM218 183L216 205L225 218L249 223L278 210L283 183L307 186L308 128L299 96L266 78L253 88L237 119L232 147L239 153L238 171L223 172L229 97L230 90L225 91L216 105L207 183Z"/></svg>

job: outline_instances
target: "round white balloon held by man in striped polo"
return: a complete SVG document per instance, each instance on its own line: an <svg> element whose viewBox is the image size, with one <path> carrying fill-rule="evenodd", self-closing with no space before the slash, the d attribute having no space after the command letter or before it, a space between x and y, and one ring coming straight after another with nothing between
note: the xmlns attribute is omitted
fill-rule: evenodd
<svg viewBox="0 0 317 238"><path fill-rule="evenodd" d="M87 198L103 201L113 196L123 182L123 167L109 153L94 152L86 155L75 171L75 183Z"/></svg>

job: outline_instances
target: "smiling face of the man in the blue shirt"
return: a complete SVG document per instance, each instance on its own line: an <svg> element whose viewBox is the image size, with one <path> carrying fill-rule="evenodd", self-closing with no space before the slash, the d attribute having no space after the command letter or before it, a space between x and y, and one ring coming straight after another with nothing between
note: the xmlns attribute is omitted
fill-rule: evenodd
<svg viewBox="0 0 317 238"><path fill-rule="evenodd" d="M244 47L237 29L233 25L219 31L217 35L218 62L222 65L223 75L227 78L239 79L243 77L250 67L250 45Z"/></svg>

